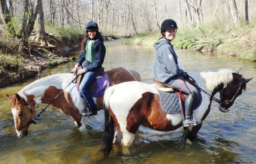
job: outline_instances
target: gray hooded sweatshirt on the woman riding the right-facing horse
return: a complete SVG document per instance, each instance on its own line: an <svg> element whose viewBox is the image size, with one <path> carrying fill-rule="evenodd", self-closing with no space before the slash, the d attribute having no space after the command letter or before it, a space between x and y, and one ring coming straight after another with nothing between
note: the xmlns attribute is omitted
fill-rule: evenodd
<svg viewBox="0 0 256 164"><path fill-rule="evenodd" d="M153 68L154 77L164 85L170 85L173 77L186 77L186 73L178 65L178 57L175 54L172 44L160 39L155 43L156 60Z"/></svg>

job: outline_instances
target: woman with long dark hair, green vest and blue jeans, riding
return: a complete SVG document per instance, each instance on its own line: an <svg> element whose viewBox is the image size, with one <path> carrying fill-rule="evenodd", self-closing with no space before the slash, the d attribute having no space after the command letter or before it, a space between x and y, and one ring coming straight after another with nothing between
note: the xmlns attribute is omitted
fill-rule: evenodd
<svg viewBox="0 0 256 164"><path fill-rule="evenodd" d="M85 28L87 34L82 41L81 53L72 72L77 71L77 74L85 73L79 90L90 108L89 112L83 113L83 115L93 116L97 115L97 105L94 103L92 95L88 91L88 87L100 74L106 54L106 48L103 43L103 36L99 33L99 26L96 22L88 22ZM83 69L79 70L79 66L82 66Z"/></svg>

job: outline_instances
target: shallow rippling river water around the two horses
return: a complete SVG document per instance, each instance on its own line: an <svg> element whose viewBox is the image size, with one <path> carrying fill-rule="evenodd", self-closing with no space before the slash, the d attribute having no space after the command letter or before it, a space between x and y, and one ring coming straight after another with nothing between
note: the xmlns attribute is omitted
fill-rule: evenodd
<svg viewBox="0 0 256 164"><path fill-rule="evenodd" d="M124 66L138 71L143 82L152 83L156 54L153 46L123 45L117 41L105 42L105 46L105 70ZM79 51L77 48L69 55L78 57ZM28 136L19 139L5 93L13 95L38 78L69 72L76 63L72 61L47 69L36 79L0 88L0 163L256 163L256 63L217 53L176 50L176 54L181 69L190 75L230 68L244 78L253 78L229 112L221 113L218 104L212 103L192 144L187 143L182 129L160 132L141 126L125 150L128 153L115 145L109 157L102 159L101 154L95 154L101 148L103 110L90 117L86 130L80 131L70 116L52 106L36 120L36 125L30 125Z"/></svg>

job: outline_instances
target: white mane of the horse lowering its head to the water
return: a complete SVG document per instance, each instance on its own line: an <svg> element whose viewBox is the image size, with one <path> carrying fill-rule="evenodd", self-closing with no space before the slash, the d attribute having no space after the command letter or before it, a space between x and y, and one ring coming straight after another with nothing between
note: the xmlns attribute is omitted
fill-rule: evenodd
<svg viewBox="0 0 256 164"><path fill-rule="evenodd" d="M38 80L30 83L29 85L27 85L23 89L21 89L18 92L18 94L25 101L28 101L28 98L25 95L26 91L28 91L30 89L33 89L33 88L36 88L36 87L41 87L41 86L43 86L45 84L48 85L48 86L50 86L50 85L55 86L57 84L56 83L56 79L58 79L58 78L61 78L63 80L63 81L60 81L60 82L64 82L64 80L68 80L69 82L71 82L72 77L73 77L73 74L71 74L71 73L59 73L59 74L55 74L55 75L50 75L50 76L38 79Z"/></svg>

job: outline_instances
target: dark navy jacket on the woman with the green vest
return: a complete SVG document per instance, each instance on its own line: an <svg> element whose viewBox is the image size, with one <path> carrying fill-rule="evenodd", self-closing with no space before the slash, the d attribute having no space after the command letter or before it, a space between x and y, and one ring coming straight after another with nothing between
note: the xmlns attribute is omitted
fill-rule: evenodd
<svg viewBox="0 0 256 164"><path fill-rule="evenodd" d="M106 55L106 48L103 43L103 36L98 33L93 38L95 40L94 44L94 58L95 61L92 63L89 60L85 59L85 54L83 53L82 49L80 52L80 56L77 60L77 63L82 66L82 68L86 68L87 71L94 71L102 67L102 64L104 62L104 58Z"/></svg>

